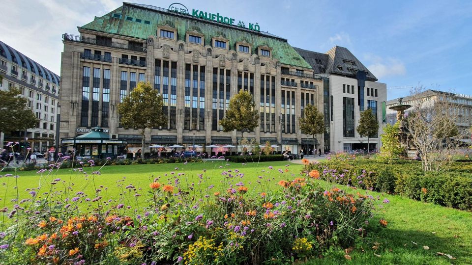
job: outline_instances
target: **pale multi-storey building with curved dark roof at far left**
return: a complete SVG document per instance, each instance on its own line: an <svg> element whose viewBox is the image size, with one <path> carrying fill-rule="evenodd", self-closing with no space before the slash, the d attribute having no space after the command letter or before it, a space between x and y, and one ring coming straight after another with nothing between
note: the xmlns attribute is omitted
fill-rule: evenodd
<svg viewBox="0 0 472 265"><path fill-rule="evenodd" d="M23 97L28 99L28 107L40 120L26 134L18 131L2 132L0 147L5 148L4 144L12 141L21 143L22 148L30 147L35 152L46 152L54 146L56 138L59 76L1 41L0 75L3 76L0 89L19 89Z"/></svg>

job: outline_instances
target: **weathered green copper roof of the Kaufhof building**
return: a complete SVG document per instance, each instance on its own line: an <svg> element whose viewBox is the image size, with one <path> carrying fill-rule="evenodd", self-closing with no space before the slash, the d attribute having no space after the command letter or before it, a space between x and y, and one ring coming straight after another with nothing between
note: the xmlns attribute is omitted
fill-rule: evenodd
<svg viewBox="0 0 472 265"><path fill-rule="evenodd" d="M156 35L159 25L165 24L177 28L178 40L185 41L187 30L197 30L205 34L206 44L211 43L213 36L223 35L230 40L230 50L236 50L236 42L242 40L252 44L252 53L256 53L258 46L267 45L273 49L272 57L280 60L280 63L312 68L285 39L275 35L227 27L215 22L177 15L158 7L123 3L123 6L102 17L95 17L92 22L79 28L147 39L149 35Z"/></svg>

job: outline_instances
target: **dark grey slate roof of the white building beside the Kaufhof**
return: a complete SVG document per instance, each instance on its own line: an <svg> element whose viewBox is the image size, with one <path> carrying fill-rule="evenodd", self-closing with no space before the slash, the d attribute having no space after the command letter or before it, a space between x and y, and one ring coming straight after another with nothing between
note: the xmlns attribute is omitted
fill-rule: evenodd
<svg viewBox="0 0 472 265"><path fill-rule="evenodd" d="M378 80L347 48L334 46L326 53L317 53L300 48L295 48L295 51L313 67L315 74L355 77L356 72L361 70L367 73L367 80Z"/></svg>

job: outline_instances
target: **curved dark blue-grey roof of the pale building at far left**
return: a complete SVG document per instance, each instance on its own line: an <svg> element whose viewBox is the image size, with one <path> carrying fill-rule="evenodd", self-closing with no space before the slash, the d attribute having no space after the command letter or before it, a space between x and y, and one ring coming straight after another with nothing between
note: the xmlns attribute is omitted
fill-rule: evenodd
<svg viewBox="0 0 472 265"><path fill-rule="evenodd" d="M55 83L56 85L59 85L60 83L60 78L58 75L54 74L46 67L31 60L28 56L18 52L17 50L13 49L11 46L5 44L2 41L0 41L0 56L4 57L10 62L18 64L20 67L28 69L28 71L31 71L37 76L44 78L52 83Z"/></svg>

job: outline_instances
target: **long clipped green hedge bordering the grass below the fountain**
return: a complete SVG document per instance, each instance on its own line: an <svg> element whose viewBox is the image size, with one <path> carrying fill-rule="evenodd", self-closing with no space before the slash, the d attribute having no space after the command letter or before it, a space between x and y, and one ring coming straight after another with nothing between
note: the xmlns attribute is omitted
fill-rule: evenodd
<svg viewBox="0 0 472 265"><path fill-rule="evenodd" d="M454 163L446 172L423 172L418 162L389 165L361 159L310 164L305 170L316 169L329 182L472 211L471 167Z"/></svg>

